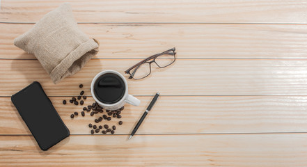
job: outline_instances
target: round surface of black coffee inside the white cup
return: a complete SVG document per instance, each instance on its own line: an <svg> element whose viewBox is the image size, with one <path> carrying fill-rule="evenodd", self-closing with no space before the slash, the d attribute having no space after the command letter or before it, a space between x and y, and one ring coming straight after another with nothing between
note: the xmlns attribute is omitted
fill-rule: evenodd
<svg viewBox="0 0 307 167"><path fill-rule="evenodd" d="M117 74L103 74L95 81L94 93L104 104L116 103L125 95L125 82Z"/></svg>

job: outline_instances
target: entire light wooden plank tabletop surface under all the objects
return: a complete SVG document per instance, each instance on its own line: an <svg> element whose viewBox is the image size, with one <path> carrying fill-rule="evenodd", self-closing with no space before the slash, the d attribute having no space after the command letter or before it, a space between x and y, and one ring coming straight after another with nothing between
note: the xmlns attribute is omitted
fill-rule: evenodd
<svg viewBox="0 0 307 167"><path fill-rule="evenodd" d="M13 39L63 1L2 0L0 166L307 166L306 1L69 1L100 52L60 84ZM116 134L90 135L78 95L101 70L124 70L171 47L177 60L129 80L141 106L125 105ZM125 74L125 77L127 75ZM71 135L38 148L10 96L39 81ZM156 92L161 98L127 140ZM88 97L86 105L93 102ZM113 121L116 124L115 120Z"/></svg>

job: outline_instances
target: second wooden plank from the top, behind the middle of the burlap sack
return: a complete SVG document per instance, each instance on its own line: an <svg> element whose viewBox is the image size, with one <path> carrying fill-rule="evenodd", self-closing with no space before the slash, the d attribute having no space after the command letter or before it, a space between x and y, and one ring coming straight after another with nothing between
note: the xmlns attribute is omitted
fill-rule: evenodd
<svg viewBox="0 0 307 167"><path fill-rule="evenodd" d="M0 24L0 58L35 58L13 45L33 24ZM178 58L307 58L307 25L79 24L100 41L95 58L146 58L176 47Z"/></svg>

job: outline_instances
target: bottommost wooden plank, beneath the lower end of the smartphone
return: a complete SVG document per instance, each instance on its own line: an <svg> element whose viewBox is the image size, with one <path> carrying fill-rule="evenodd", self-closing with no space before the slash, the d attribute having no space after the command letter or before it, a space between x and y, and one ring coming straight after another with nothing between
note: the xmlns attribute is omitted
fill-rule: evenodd
<svg viewBox="0 0 307 167"><path fill-rule="evenodd" d="M0 136L1 166L307 166L307 134ZM12 142L14 141L14 142Z"/></svg>

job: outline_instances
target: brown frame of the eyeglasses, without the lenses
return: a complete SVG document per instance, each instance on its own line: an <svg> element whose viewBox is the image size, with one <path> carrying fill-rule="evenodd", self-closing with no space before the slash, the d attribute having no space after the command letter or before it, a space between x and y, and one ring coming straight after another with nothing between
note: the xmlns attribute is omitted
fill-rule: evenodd
<svg viewBox="0 0 307 167"><path fill-rule="evenodd" d="M175 52L175 50L176 50L176 48L173 47L172 49L168 49L167 51L163 51L162 53L159 53L159 54L155 54L155 55L149 56L148 58L145 58L143 61L140 61L139 63L136 63L136 65L133 65L132 67L129 67L128 70L125 70L125 73L130 75L129 79L132 79L132 78L135 79L134 77L132 77L132 74L130 73L130 70L132 70L134 67L137 67L137 66L139 66L139 65L142 65L143 63L149 63L149 65L150 65L150 72L149 72L148 75L150 75L150 74L151 74L151 63L155 62L156 65L157 65L158 67L160 67L160 66L157 64L157 62L155 61L155 59L156 59L158 56L161 56L161 55L163 55L163 54L166 54L166 53L169 52L169 51L173 51L173 54L174 54L174 61L173 61L172 63L170 63L169 65L173 64L173 63L175 62L175 60L176 60L176 56L175 56L175 55L176 55L176 52ZM153 61L150 61L152 58L153 58ZM147 61L150 61L150 62L147 62ZM166 65L166 66L164 66L164 67L167 67L167 66L168 66L168 65ZM160 67L160 68L164 68L164 67ZM135 71L136 71L136 70L135 70ZM145 77L148 77L148 75L146 75ZM145 77L142 77L142 78L139 78L139 79L143 79L143 78L145 78Z"/></svg>

